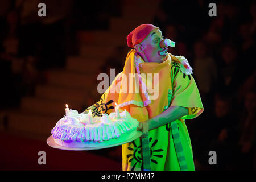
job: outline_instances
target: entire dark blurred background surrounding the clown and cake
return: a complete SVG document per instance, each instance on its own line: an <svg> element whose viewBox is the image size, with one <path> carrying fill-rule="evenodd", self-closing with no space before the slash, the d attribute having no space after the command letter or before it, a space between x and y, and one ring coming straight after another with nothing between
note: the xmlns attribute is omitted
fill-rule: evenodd
<svg viewBox="0 0 256 182"><path fill-rule="evenodd" d="M38 3L46 17L38 16ZM217 5L210 17L209 3ZM251 170L255 155L255 1L0 1L0 169L121 170L121 147L62 151L46 144L69 108L100 100L97 75L122 71L126 36L151 23L176 42L204 105L187 120L196 170ZM217 164L209 165L209 151ZM46 151L47 164L38 164Z"/></svg>

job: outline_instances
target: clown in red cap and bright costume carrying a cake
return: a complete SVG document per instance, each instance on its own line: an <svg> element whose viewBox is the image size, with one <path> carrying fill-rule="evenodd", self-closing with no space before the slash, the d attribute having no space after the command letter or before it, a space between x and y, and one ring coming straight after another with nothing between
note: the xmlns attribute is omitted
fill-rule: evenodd
<svg viewBox="0 0 256 182"><path fill-rule="evenodd" d="M167 52L175 43L164 39L152 24L142 24L130 32L127 45L133 49L127 54L123 71L85 113L92 109L93 116L109 114L116 102L140 122L138 130L143 136L122 145L123 170L195 170L185 119L199 116L204 108L192 68L185 57ZM146 76L148 73L153 76ZM122 92L131 86L122 79L129 74L137 78L135 90L139 92ZM147 83L158 84L157 98L151 97L154 93L148 92ZM116 85L121 92L110 92Z"/></svg>

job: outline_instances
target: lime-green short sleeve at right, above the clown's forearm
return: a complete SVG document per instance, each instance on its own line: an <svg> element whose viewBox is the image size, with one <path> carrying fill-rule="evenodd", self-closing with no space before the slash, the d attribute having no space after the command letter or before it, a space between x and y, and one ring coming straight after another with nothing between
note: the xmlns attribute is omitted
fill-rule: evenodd
<svg viewBox="0 0 256 182"><path fill-rule="evenodd" d="M171 78L173 93L171 106L188 108L188 115L184 115L181 119L199 116L204 111L204 107L193 76L183 73L179 63L172 63Z"/></svg>

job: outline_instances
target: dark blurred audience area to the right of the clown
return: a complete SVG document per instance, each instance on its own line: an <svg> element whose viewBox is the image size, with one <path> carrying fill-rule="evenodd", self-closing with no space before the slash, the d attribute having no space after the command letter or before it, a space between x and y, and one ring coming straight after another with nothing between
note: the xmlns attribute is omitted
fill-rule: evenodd
<svg viewBox="0 0 256 182"><path fill-rule="evenodd" d="M154 24L193 65L205 111L187 122L196 169L255 169L254 1L161 1ZM185 6L184 6L185 5ZM181 11L182 10L182 11ZM208 152L217 152L217 165Z"/></svg>

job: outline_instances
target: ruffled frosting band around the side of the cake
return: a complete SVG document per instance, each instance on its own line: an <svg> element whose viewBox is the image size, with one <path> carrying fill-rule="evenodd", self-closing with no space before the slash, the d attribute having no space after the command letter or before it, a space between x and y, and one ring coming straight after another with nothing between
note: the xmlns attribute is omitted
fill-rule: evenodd
<svg viewBox="0 0 256 182"><path fill-rule="evenodd" d="M60 125L58 122L52 129L51 133L53 138L64 141L102 142L105 140L119 138L121 134L139 126L139 122L136 119L132 118L130 115L126 116L126 121L117 121L110 125L101 123L98 127L75 127Z"/></svg>

